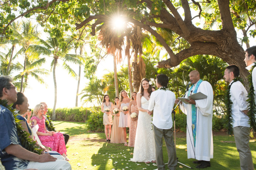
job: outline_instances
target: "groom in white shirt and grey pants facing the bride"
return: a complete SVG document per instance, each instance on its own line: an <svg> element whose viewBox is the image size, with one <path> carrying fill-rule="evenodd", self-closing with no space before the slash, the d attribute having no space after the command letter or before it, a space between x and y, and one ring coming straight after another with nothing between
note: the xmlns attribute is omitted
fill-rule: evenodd
<svg viewBox="0 0 256 170"><path fill-rule="evenodd" d="M177 157L175 144L173 142L172 128L172 108L175 102L175 94L167 89L169 79L165 74L158 74L156 82L159 90L151 93L148 109L150 112L154 109L153 131L155 137L155 157L157 161L157 168L158 170L165 169L162 150L162 137L164 136L168 153L168 168L170 170L175 170L177 167Z"/></svg>

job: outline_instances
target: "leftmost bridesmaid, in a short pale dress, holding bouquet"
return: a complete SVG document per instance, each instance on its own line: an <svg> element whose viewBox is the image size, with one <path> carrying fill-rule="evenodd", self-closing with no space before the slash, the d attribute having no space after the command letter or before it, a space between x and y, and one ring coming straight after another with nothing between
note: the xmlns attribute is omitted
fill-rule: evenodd
<svg viewBox="0 0 256 170"><path fill-rule="evenodd" d="M105 94L101 104L101 111L103 112L103 124L105 125L105 135L107 142L110 142L111 125L113 124L111 115L112 107L113 103L109 101L109 95ZM109 111L106 111L107 108L109 109ZM109 135L107 135L107 129Z"/></svg>

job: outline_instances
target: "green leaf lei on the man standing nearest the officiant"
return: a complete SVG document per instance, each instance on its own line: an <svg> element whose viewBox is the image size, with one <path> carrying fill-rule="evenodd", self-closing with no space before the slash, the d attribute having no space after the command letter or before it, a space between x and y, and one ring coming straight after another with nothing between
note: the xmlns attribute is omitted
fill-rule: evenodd
<svg viewBox="0 0 256 170"><path fill-rule="evenodd" d="M233 126L232 126L233 120L232 120L232 115L231 115L231 113L232 113L231 106L232 106L233 102L230 100L230 97L231 97L230 88L231 88L231 85L233 83L235 83L236 81L242 82L242 79L240 77L233 79L233 82L230 84L230 86L228 86L228 89L226 90L226 95L225 95L225 99L224 99L224 103L227 106L227 109L224 112L224 113L226 113L224 116L224 121L225 121L225 127L228 130L228 135L233 134Z"/></svg>

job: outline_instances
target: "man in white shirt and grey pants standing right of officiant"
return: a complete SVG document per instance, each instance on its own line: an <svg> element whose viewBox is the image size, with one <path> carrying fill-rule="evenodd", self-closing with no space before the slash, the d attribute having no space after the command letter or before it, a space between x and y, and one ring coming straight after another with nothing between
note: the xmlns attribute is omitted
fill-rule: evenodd
<svg viewBox="0 0 256 170"><path fill-rule="evenodd" d="M230 83L229 95L230 101L233 103L227 107L231 107L231 124L233 126L236 149L239 152L241 170L253 170L253 158L249 147L250 125L249 117L247 116L247 91L243 84L235 79L238 76L238 66L230 65L226 67L223 78Z"/></svg>

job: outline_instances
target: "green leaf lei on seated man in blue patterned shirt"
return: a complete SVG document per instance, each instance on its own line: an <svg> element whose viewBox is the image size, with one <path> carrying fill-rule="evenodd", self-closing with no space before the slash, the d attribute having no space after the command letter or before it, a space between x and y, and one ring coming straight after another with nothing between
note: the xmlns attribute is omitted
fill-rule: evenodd
<svg viewBox="0 0 256 170"><path fill-rule="evenodd" d="M36 142L29 138L30 134L28 132L26 132L25 130L22 130L23 127L20 124L20 121L22 121L22 120L17 119L18 114L14 112L15 109L12 108L12 104L8 105L7 100L2 100L2 99L0 99L0 104L12 112L13 117L15 119L15 124L17 127L18 137L20 139L21 146L23 148L25 148L26 150L29 150L31 152L34 152L34 153L37 153L38 155L40 155L41 152L43 151L43 149L40 149L39 147L37 147L35 145Z"/></svg>

